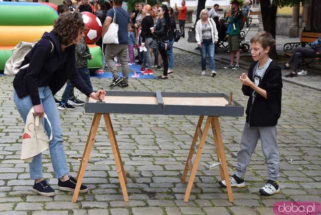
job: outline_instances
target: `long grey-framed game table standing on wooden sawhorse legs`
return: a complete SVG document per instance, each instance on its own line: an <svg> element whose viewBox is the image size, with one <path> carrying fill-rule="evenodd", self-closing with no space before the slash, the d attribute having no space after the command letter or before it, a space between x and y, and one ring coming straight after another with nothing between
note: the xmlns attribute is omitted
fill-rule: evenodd
<svg viewBox="0 0 321 215"><path fill-rule="evenodd" d="M141 92L142 93L142 92ZM79 166L78 175L77 175L77 184L76 189L73 194L72 202L76 202L79 194L80 185L82 184L82 180L85 174L86 166L88 164L88 160L90 157L90 152L93 147L96 133L98 130L99 122L101 117L103 116L106 129L108 132L109 142L112 149L113 157L116 164L116 169L118 173L118 179L120 182L120 187L123 193L124 201L128 201L128 194L127 194L127 178L126 173L123 167L123 163L121 160L121 156L119 153L117 140L115 137L115 133L112 127L111 119L109 113L123 113L123 114L173 114L173 115L198 115L199 120L195 129L194 138L192 141L192 145L190 148L189 155L187 157L187 161L185 164L185 169L183 172L182 182L186 182L186 177L188 174L188 171L190 171L190 178L188 181L187 189L185 192L184 201L188 202L190 193L193 187L193 183L195 180L196 172L200 163L201 155L203 152L203 148L205 145L205 140L208 135L209 129L212 128L213 138L214 138L214 144L216 147L216 154L217 158L220 162L219 168L220 168L220 174L221 179L226 180L227 185L227 192L228 192L228 198L230 202L233 202L233 193L231 184L229 181L229 173L228 173L228 167L227 162L225 158L224 153L224 146L222 141L222 135L221 135L221 129L220 129L220 123L219 123L219 117L215 116L214 114L218 114L219 116L243 116L243 107L240 106L237 102L234 101L234 105L229 104L229 106L226 105L228 100L228 97L221 93L164 93L165 96L168 96L168 98L164 97L165 101L163 101L162 93L156 92L156 94L151 92L143 92L141 94L141 99L137 95L137 92L109 92L108 93L109 98L105 98L105 100L110 102L108 106L105 106L106 103L95 103L95 101L88 99L86 103L86 112L88 113L95 113L92 121L92 125L90 128L89 136L87 139L87 144L82 156L81 164ZM110 95L111 94L111 95ZM125 109L124 104L115 103L119 101L119 96L128 96L126 104L131 105L132 108ZM153 100L150 97L156 95L157 100ZM159 97L160 96L160 97ZM180 96L185 96L184 99L180 100ZM216 102L216 105L212 105L211 111L207 111L207 105L209 105L209 100L206 100L207 105L200 105L197 104L196 108L194 109L194 106L189 105L189 102L185 102L186 100L197 100L197 102L200 102L199 96L205 96L207 98L213 98L213 102ZM113 98L114 97L114 98ZM219 97L220 100L217 100L216 98ZM170 98L174 98L175 101L173 101L174 104L167 104L171 103ZM180 97L181 98L181 97ZM215 98L215 99L214 99ZM223 100L222 100L223 99ZM139 104L138 101L143 102L143 104ZM232 99L230 98L230 101ZM159 106L153 106L154 102L156 102L155 105ZM185 102L182 104L182 102ZM192 103L192 101L190 101ZM164 104L165 103L165 104ZM229 102L230 103L230 102ZM165 105L167 107L165 107ZM153 109L150 109L150 107L153 107ZM182 109L182 107L185 107L185 109ZM167 108L167 109L166 109ZM176 110L178 109L178 110ZM116 110L116 111L115 111ZM193 113L195 112L195 113ZM202 123L204 120L205 114L213 114L207 117L206 123L204 126L204 129L202 131ZM196 153L194 164L192 162L193 153L196 151L196 143L198 138L200 139L200 143L198 145L198 150Z"/></svg>

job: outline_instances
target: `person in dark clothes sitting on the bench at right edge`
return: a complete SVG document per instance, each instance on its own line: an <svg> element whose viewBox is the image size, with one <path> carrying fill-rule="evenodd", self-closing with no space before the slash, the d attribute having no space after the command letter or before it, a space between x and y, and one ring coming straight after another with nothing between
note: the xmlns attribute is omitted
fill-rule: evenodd
<svg viewBox="0 0 321 215"><path fill-rule="evenodd" d="M296 77L296 70L301 62L301 58L316 58L321 57L321 37L311 44L311 48L297 47L294 49L290 60L285 64L284 70L289 70L292 64L292 71L285 77ZM299 73L300 74L300 73ZM306 74L306 72L304 73Z"/></svg>

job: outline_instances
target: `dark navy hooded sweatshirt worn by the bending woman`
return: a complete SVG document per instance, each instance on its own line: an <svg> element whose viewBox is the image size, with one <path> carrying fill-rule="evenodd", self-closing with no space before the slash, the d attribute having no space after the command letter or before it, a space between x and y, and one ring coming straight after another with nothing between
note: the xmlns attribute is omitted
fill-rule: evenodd
<svg viewBox="0 0 321 215"><path fill-rule="evenodd" d="M51 52L52 44L54 50ZM68 46L64 52L57 33L45 32L34 48L26 55L22 69L14 79L14 88L19 98L30 95L33 105L40 104L38 87L49 86L56 94L70 79L82 93L89 96L93 91L85 84L76 69L75 45Z"/></svg>

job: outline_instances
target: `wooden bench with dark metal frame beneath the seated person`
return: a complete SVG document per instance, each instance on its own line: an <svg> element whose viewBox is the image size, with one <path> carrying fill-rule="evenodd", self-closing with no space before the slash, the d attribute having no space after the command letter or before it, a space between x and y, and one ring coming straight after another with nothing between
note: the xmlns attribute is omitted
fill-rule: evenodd
<svg viewBox="0 0 321 215"><path fill-rule="evenodd" d="M311 43L314 42L316 39L321 37L321 33L315 33L315 32L302 32L300 42L297 43L285 43L283 46L284 55L291 57L292 52L297 47L305 47L308 45L311 48ZM302 59L301 64L304 64L306 66L309 66L314 61L318 62L321 60L321 57L316 58L308 58L310 60L306 61L304 58Z"/></svg>

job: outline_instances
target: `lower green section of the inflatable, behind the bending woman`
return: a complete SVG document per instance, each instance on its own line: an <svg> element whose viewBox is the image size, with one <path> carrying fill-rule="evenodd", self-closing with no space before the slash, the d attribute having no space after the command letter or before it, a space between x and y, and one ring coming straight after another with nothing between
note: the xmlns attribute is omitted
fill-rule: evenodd
<svg viewBox="0 0 321 215"><path fill-rule="evenodd" d="M88 68L90 69L98 69L102 67L102 53L100 47L89 47L90 54L93 59L88 60ZM7 60L12 55L12 51L9 50L0 50L0 72L3 73L5 69L5 64Z"/></svg>

